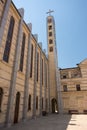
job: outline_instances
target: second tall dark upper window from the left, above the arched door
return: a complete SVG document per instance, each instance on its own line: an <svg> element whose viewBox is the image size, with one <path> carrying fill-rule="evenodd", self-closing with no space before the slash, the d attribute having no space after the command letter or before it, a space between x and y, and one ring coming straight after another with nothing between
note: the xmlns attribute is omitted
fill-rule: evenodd
<svg viewBox="0 0 87 130"><path fill-rule="evenodd" d="M26 39L26 36L25 36L25 33L23 33L22 46L21 46L21 57L20 57L20 67L19 67L20 71L23 71L25 39Z"/></svg>

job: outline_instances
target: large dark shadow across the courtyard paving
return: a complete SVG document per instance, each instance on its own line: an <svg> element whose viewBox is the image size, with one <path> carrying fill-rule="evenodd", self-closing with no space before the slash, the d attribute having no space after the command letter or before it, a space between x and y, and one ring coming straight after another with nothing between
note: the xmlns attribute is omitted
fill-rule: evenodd
<svg viewBox="0 0 87 130"><path fill-rule="evenodd" d="M75 125L73 122L75 119L72 119L72 123L69 123L71 117L72 115L68 114L51 114L0 130L67 130L68 125Z"/></svg>

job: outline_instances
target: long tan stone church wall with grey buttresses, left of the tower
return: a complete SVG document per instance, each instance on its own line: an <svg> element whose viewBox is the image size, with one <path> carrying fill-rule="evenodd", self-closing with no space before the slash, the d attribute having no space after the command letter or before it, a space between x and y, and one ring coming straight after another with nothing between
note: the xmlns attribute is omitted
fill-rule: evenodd
<svg viewBox="0 0 87 130"><path fill-rule="evenodd" d="M49 112L48 58L11 0L0 1L0 124Z"/></svg>

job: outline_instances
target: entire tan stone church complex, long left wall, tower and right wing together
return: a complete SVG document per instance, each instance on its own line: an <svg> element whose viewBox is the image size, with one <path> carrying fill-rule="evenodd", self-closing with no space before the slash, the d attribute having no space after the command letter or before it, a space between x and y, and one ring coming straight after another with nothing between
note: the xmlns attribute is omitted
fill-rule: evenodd
<svg viewBox="0 0 87 130"><path fill-rule="evenodd" d="M44 112L87 112L87 60L58 69L54 17L47 17L48 56L23 17L23 8L0 0L0 125Z"/></svg>

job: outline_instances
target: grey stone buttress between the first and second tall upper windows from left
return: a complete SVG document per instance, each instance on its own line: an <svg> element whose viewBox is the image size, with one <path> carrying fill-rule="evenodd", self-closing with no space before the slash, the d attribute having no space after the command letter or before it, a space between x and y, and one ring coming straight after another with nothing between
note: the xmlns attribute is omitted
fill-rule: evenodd
<svg viewBox="0 0 87 130"><path fill-rule="evenodd" d="M5 122L6 126L10 126L13 120L12 114L13 114L13 106L14 106L14 93L15 93L16 77L18 71L20 43L22 42L22 24L23 24L24 10L20 9L19 11L22 17L19 22L19 32L18 32L18 38L16 44L15 60L14 60L14 66L13 66L12 76L11 76L12 78L11 78L10 89L9 89L8 106L7 106L7 114L6 114L6 122Z"/></svg>

